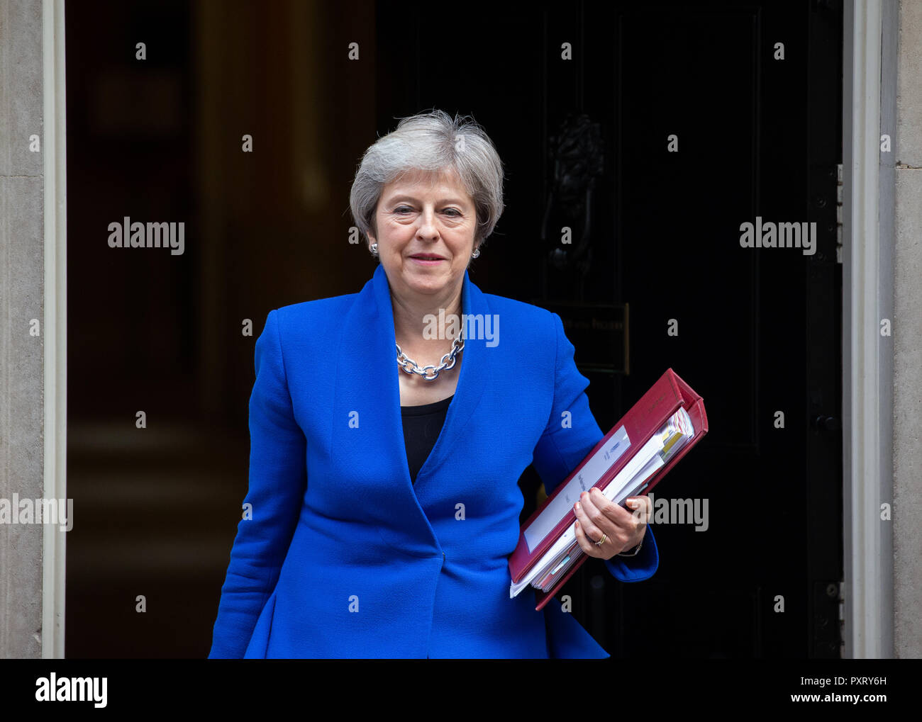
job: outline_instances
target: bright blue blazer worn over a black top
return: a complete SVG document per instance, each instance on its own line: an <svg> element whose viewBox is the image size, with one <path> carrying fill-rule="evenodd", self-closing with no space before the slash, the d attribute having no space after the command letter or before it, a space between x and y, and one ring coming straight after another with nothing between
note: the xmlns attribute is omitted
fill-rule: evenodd
<svg viewBox="0 0 922 722"><path fill-rule="evenodd" d="M509 598L520 475L534 463L550 494L603 436L573 345L559 316L482 293L467 272L462 308L496 314L498 343L466 339L415 485L384 267L360 293L269 311L209 658L609 656L559 601ZM625 582L658 564L649 528L635 557L605 562Z"/></svg>

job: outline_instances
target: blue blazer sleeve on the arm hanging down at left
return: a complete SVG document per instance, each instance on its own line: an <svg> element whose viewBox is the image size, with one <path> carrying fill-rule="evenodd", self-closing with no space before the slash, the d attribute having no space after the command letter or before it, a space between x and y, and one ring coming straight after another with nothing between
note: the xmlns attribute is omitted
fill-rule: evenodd
<svg viewBox="0 0 922 722"><path fill-rule="evenodd" d="M243 657L278 581L307 485L307 440L292 412L278 309L269 311L254 357L250 485L243 499L252 518L244 513L237 525L208 658Z"/></svg>

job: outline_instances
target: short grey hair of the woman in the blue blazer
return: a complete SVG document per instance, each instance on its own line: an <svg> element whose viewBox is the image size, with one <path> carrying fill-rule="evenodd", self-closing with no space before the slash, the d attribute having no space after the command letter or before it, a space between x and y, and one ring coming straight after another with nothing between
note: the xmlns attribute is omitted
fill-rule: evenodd
<svg viewBox="0 0 922 722"><path fill-rule="evenodd" d="M479 246L502 215L502 160L473 117L455 114L452 120L436 109L402 119L365 151L349 192L355 225L366 239L369 230L377 238L375 215L384 185L415 171L445 169L457 173L474 201Z"/></svg>

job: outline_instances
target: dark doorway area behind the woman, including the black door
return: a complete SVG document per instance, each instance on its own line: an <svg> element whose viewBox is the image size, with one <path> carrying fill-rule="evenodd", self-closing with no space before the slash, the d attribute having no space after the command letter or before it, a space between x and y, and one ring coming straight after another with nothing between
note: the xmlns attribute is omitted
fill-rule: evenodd
<svg viewBox="0 0 922 722"><path fill-rule="evenodd" d="M507 169L471 280L561 313L599 425L667 367L706 404L655 495L706 498L709 529L655 526L643 583L589 560L574 613L614 657L839 655L841 0L111 1L68 4L66 38L68 657L207 656L255 338L371 276L350 181L433 107L473 115ZM740 248L756 215L816 221L818 252ZM109 248L124 216L183 221L183 255Z"/></svg>

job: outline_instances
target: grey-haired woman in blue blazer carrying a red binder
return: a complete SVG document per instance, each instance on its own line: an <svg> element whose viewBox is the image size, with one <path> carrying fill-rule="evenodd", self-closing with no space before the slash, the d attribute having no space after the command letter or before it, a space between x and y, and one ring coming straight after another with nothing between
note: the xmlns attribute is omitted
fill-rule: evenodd
<svg viewBox="0 0 922 722"><path fill-rule="evenodd" d="M270 311L256 342L209 657L608 657L556 600L509 596L519 476L534 463L550 494L603 435L560 318L468 278L502 213L491 140L443 111L405 118L350 204L372 279ZM654 574L641 515L597 490L578 506L586 554Z"/></svg>

